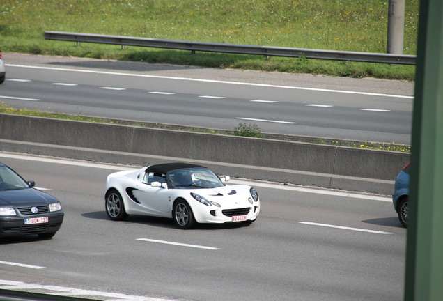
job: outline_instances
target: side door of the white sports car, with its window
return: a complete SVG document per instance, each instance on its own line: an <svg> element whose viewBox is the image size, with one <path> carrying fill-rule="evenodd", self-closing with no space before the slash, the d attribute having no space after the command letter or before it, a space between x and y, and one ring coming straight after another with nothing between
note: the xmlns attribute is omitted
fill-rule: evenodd
<svg viewBox="0 0 443 301"><path fill-rule="evenodd" d="M164 185L162 187L152 187L150 184L153 182L164 183ZM164 175L161 173L146 173L141 185L137 188L137 190L132 191L132 194L149 213L166 216L166 213L171 212L171 203Z"/></svg>

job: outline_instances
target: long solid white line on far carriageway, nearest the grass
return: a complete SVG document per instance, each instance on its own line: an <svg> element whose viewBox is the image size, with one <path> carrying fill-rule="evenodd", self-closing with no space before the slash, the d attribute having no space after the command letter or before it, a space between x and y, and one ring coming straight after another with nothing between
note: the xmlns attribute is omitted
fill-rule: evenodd
<svg viewBox="0 0 443 301"><path fill-rule="evenodd" d="M77 69L69 69L69 68L54 68L54 67L40 67L40 66L13 65L13 64L6 64L6 65L9 65L11 67L17 67L17 68L59 70L59 71L63 71L63 72L70 71L70 72L84 72L84 73L94 73L94 74L104 74L104 75L119 75L119 76L124 75L124 76L132 76L132 77L175 79L175 80L190 81L190 82L210 82L210 83L217 83L217 84L236 84L236 85L242 85L242 86L261 86L261 87L269 87L269 88L287 88L287 89L294 89L294 90L322 91L322 92L332 92L332 93L373 95L373 96L384 96L384 97L391 97L391 98L414 99L414 96L408 96L408 95L393 95L393 94L383 94L383 93L343 91L343 90L332 90L332 89L324 89L324 88L306 88L306 87L297 87L297 86L279 86L279 85L272 85L272 84L254 84L254 83L248 83L248 82L228 82L228 81L220 81L220 80L212 80L212 79L195 79L195 78L187 78L187 77L168 77L168 76L160 76L160 75L139 75L139 74L133 74L133 73L107 72L107 71L95 71L95 70L77 70Z"/></svg>

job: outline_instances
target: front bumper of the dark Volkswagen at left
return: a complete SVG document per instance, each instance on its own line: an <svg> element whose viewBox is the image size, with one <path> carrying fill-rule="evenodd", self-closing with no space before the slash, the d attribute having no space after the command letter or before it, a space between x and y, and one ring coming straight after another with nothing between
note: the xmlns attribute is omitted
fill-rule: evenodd
<svg viewBox="0 0 443 301"><path fill-rule="evenodd" d="M59 231L64 215L63 211L41 215L49 217L47 223L29 225L24 224L24 219L40 216L0 217L0 237L55 233L56 231Z"/></svg>

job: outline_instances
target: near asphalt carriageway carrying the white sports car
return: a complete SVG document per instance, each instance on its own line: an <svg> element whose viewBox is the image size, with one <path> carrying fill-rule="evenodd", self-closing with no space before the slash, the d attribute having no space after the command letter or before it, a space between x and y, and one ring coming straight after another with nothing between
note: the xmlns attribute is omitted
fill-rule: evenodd
<svg viewBox="0 0 443 301"><path fill-rule="evenodd" d="M50 240L0 241L0 288L98 300L403 300L406 231L389 196L233 179L258 190L258 220L182 231L169 219L107 218L106 176L135 167L17 153L0 162L65 211Z"/></svg>

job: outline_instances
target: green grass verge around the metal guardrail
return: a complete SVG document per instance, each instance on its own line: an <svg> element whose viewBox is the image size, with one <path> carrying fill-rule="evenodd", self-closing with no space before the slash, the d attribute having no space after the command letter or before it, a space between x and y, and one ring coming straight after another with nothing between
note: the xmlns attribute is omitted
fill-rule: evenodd
<svg viewBox="0 0 443 301"><path fill-rule="evenodd" d="M345 63L44 40L44 31L386 52L380 0L2 0L0 49L221 68L414 80L414 66ZM416 54L419 0L406 1L404 54ZM7 56L6 56L7 58Z"/></svg>

